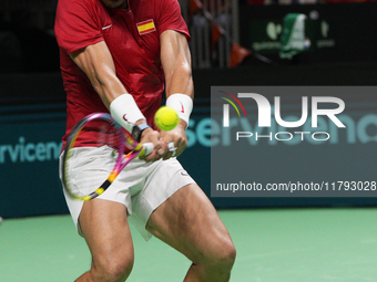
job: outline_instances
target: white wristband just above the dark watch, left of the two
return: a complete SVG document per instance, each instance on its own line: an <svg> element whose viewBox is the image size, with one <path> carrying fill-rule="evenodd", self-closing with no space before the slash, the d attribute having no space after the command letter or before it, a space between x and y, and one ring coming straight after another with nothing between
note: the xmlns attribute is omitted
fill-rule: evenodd
<svg viewBox="0 0 377 282"><path fill-rule="evenodd" d="M111 102L110 114L130 133L137 121L146 119L131 94L120 95Z"/></svg>

